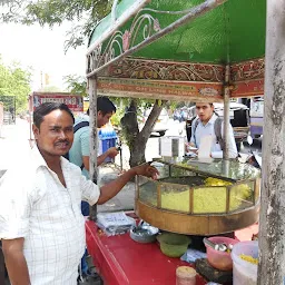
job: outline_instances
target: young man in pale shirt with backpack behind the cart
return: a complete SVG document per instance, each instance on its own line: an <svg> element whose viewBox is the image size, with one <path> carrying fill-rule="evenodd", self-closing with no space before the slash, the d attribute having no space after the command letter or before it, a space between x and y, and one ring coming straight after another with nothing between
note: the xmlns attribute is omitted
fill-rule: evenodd
<svg viewBox="0 0 285 285"><path fill-rule="evenodd" d="M191 138L189 146L199 148L202 138L204 136L212 136L212 149L210 156L213 158L223 158L223 142L224 139L224 131L223 131L223 124L220 126L220 135L222 139L217 137L216 129L219 128L217 126L215 128L215 122L219 118L214 112L214 105L206 104L206 102L197 102L196 104L196 114L197 118L191 124ZM237 148L234 137L233 127L229 125L229 158L237 157Z"/></svg>

